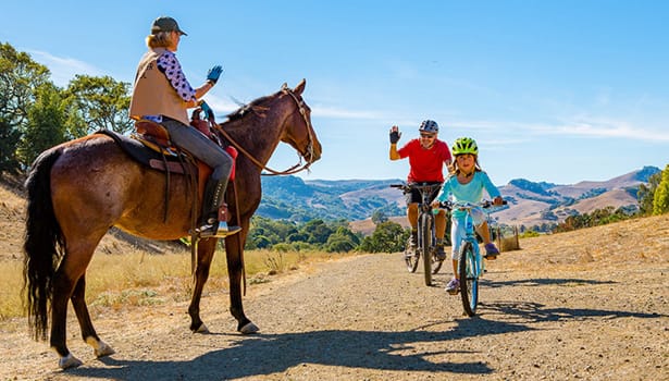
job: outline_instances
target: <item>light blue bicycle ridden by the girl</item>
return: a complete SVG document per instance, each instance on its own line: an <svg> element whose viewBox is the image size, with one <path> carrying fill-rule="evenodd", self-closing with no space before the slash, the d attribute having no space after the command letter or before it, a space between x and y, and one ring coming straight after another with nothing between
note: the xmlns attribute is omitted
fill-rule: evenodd
<svg viewBox="0 0 669 381"><path fill-rule="evenodd" d="M506 204L506 200L503 201L503 205ZM476 306L479 305L479 278L481 278L485 271L485 263L481 257L481 250L479 248L479 241L476 239L474 231L471 210L478 207L487 209L492 207L493 204L487 200L475 204L467 201L446 201L442 202L442 206L450 210L458 209L467 212L463 220L466 236L462 238L460 244L458 274L460 278L460 296L462 297L462 307L464 308L464 312L472 317L476 314Z"/></svg>

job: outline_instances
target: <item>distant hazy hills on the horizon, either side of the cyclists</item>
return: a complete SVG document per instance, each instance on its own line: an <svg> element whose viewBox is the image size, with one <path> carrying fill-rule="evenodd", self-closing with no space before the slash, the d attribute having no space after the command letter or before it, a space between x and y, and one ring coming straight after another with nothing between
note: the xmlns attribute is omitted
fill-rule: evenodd
<svg viewBox="0 0 669 381"><path fill-rule="evenodd" d="M573 185L511 180L500 186L510 207L495 213L499 222L532 226L559 222L575 213L608 206L637 208L641 183L659 172L655 167L625 173L604 182L583 181ZM293 221L369 219L375 210L387 217L405 214L405 198L391 184L401 180L308 180L296 176L263 176L262 201L257 214Z"/></svg>

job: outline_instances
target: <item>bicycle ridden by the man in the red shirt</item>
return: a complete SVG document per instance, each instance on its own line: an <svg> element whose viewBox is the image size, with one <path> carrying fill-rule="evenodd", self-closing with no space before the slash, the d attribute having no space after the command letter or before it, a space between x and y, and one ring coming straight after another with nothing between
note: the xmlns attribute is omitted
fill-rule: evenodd
<svg viewBox="0 0 669 381"><path fill-rule="evenodd" d="M419 202L418 214L418 245L413 248L411 237L407 241L405 247L405 263L409 272L416 272L418 269L419 259L423 258L423 271L425 275L425 285L432 285L432 275L436 274L442 265L443 259L436 256L436 237L434 231L434 213L430 200L430 196L442 187L442 184L392 184L391 187L399 188L405 194L411 189L417 189L421 194L421 202Z"/></svg>

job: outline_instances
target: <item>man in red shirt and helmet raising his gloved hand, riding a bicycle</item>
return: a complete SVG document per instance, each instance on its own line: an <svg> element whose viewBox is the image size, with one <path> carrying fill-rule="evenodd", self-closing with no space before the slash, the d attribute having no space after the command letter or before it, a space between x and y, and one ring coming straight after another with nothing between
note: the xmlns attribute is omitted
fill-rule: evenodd
<svg viewBox="0 0 669 381"><path fill-rule="evenodd" d="M453 160L448 145L437 138L439 126L435 121L425 120L418 128L420 138L409 140L397 149L397 142L401 136L399 127L391 127L391 160L409 158L409 175L407 183L442 184L444 183L444 165L448 168ZM438 188L430 196L430 201L436 197ZM418 204L421 201L420 192L412 189L407 193L407 219L411 225L411 246L418 244ZM444 234L446 232L446 213L439 210L434 221L436 236L436 256L439 260L446 258L444 251Z"/></svg>

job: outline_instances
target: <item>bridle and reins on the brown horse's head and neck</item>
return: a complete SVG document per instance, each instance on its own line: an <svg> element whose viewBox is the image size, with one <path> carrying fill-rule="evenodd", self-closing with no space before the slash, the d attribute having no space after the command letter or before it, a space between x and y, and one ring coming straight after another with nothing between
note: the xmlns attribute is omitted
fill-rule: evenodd
<svg viewBox="0 0 669 381"><path fill-rule="evenodd" d="M295 93L293 93L293 90L288 87L287 84L283 84L283 86L281 87L281 91L284 95L289 95L290 98L293 98L293 100L295 100L295 103L297 106L297 111L299 111L300 115L302 115L302 120L305 121L305 125L307 126L307 134L308 134L308 138L309 138L309 143L307 144L307 149L305 150L305 152L299 152L299 162L290 168L288 168L287 170L284 171L276 171L273 170L269 167L267 167L265 164L261 163L258 159L256 159L249 151L247 151L244 147L241 147L235 139L232 138L232 136L230 136L230 134L221 128L221 126L213 122L213 120L211 121L212 126L220 132L232 145L233 147L235 147L238 151L240 151L241 153L244 153L253 164L256 164L258 168L260 168L261 170L268 171L269 173L261 173L262 175L269 175L269 176L274 176L274 175L284 175L284 174L294 174L294 173L298 173L305 170L309 170L309 167L311 165L311 163L313 163L313 126L311 125L311 121L309 120L309 118L307 118L307 108L305 105L303 100L300 100L297 98L297 96L295 95ZM252 108L251 108L252 110ZM302 158L306 157L307 155L309 155L309 159L306 163L302 164Z"/></svg>

